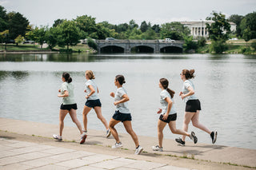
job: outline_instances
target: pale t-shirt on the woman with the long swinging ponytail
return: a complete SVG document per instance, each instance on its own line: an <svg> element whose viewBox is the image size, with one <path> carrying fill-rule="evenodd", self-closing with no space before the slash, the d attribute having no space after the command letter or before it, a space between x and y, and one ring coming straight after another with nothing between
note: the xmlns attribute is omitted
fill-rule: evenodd
<svg viewBox="0 0 256 170"><path fill-rule="evenodd" d="M173 101L173 105L171 106L171 109L170 109L170 114L174 114L176 113L176 110L174 109L174 100L170 97L170 93L167 92L166 89L162 90L162 92L160 93L160 103L162 105L162 115L163 114L166 114L167 112L167 108L168 108L168 103L166 102L166 97L169 97L171 101Z"/></svg>

